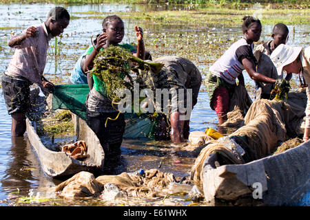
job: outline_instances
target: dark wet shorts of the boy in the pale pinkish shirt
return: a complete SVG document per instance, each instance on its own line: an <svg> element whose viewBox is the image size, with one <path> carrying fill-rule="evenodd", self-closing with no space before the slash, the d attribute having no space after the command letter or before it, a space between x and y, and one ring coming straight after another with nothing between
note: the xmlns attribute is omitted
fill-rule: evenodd
<svg viewBox="0 0 310 220"><path fill-rule="evenodd" d="M2 90L8 113L27 113L30 107L30 83L29 80L12 77L3 74Z"/></svg>

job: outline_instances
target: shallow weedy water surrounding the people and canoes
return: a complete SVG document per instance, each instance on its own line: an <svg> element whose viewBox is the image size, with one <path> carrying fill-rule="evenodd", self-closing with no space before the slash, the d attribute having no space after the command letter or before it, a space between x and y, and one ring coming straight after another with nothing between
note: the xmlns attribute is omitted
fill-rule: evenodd
<svg viewBox="0 0 310 220"><path fill-rule="evenodd" d="M45 21L46 14L54 4L12 4L0 5L0 75L5 71L13 50L6 45L10 34L20 33L29 25ZM60 56L54 56L54 39L50 41L48 63L45 67L45 77L54 83L66 83L70 76L70 71L75 61L90 45L92 34L101 32L102 19L94 19L94 14L85 12L97 11L106 16L110 12L145 12L147 10L165 10L164 6L157 7L149 5L68 5L71 16L82 17L72 19L63 37L59 38L61 44L57 45ZM170 7L170 6L169 6ZM173 6L171 6L173 8ZM173 8L174 9L174 8ZM178 10L179 8L175 8ZM182 8L180 8L182 9ZM83 12L83 13L82 13ZM104 14L104 13L107 14ZM276 15L275 15L276 16ZM153 57L165 55L177 55L189 58L195 63L203 74L209 65L216 60L242 35L240 25L236 27L196 27L190 23L187 25L171 23L162 25L160 22L149 22L147 20L123 19L125 23L125 38L123 43L135 43L134 25L140 25L145 32L146 49ZM263 25L262 41L269 40L273 25ZM306 47L310 44L309 25L289 25L293 30L289 34L290 45L301 45ZM218 43L218 39L222 39ZM214 43L217 47L199 48L199 45ZM197 45L196 47L193 46ZM196 48L196 50L193 50ZM209 49L208 49L209 48ZM213 48L213 49L212 49ZM205 51L203 51L205 50ZM245 74L245 83L253 87L254 83ZM201 87L204 88L203 85ZM29 192L40 193L42 197L53 197L45 195L52 186L59 184L60 180L50 179L43 174L40 169L36 155L32 151L27 134L24 137L11 140L10 136L10 115L6 111L6 106L0 89L0 206L14 205L14 198L17 197L19 190L20 196L28 196ZM253 96L252 96L253 97ZM200 91L198 103L192 112L190 121L190 131L205 131L207 127L218 129L216 113L209 107L207 93ZM189 175L189 171L194 164L194 157L176 157L165 151L165 144L154 143L149 140L124 140L121 147L121 156L118 158L115 173L134 172L140 168L158 168L163 172L174 173L177 177ZM44 196L45 195L45 196ZM185 206L191 203L181 197L171 197L163 203L158 201L119 201L116 205L169 205ZM103 203L102 201L58 201L63 205L81 204L87 206L112 205L114 203ZM48 203L49 205L51 203ZM200 203L199 205L203 205Z"/></svg>

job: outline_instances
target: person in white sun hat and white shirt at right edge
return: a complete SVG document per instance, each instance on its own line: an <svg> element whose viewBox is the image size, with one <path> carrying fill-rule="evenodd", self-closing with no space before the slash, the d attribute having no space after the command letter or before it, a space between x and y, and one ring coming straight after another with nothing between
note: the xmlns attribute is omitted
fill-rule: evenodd
<svg viewBox="0 0 310 220"><path fill-rule="evenodd" d="M278 74L281 74L282 71L300 74L305 81L303 85L307 86L308 100L303 140L306 142L310 136L310 47L291 47L281 44L272 52L270 58L276 66Z"/></svg>

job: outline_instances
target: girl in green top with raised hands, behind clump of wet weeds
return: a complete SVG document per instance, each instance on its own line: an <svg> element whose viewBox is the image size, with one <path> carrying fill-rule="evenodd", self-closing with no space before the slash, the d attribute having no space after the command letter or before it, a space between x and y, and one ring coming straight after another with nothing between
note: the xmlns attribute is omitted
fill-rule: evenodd
<svg viewBox="0 0 310 220"><path fill-rule="evenodd" d="M98 52L107 49L110 45L123 47L141 59L145 58L145 47L143 30L137 26L135 27L138 41L137 48L127 43L120 44L125 34L124 23L116 15L106 17L103 20L102 26L103 32L97 37L96 45L87 50L85 59L81 62L81 67L83 72L88 72L87 83L90 87L90 94L87 98L87 122L99 137L105 153L108 154L118 150L121 146L125 131L124 114L118 113L114 109L112 100L107 98L105 94L105 84L98 77L91 76L89 70L92 69L94 58Z"/></svg>

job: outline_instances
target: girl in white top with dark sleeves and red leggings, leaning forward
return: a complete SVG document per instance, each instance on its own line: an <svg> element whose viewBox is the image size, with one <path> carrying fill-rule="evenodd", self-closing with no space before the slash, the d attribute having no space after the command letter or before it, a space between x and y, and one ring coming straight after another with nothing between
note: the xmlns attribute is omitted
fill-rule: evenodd
<svg viewBox="0 0 310 220"><path fill-rule="evenodd" d="M234 94L236 78L241 85L245 85L242 75L247 70L250 78L262 83L276 83L276 79L269 78L256 72L254 58L254 42L260 39L262 25L259 19L244 17L242 23L243 36L232 44L229 49L209 68L205 84L210 100L211 109L216 111L219 124L227 120L229 100Z"/></svg>

